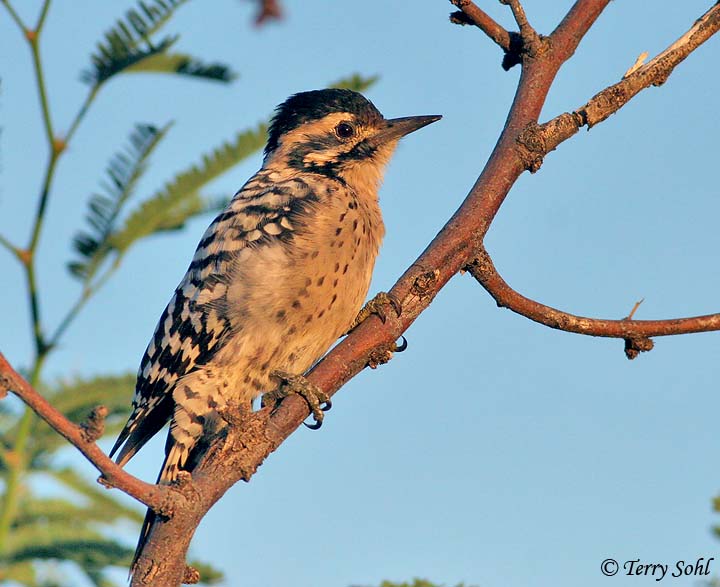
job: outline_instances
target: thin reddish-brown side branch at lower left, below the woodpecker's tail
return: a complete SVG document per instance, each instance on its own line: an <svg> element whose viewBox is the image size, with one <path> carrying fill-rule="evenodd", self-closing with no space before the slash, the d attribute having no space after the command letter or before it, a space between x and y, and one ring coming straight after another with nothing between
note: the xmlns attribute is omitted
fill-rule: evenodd
<svg viewBox="0 0 720 587"><path fill-rule="evenodd" d="M102 473L103 484L117 487L158 512L167 512L182 504L180 500L184 500L184 498L179 492L168 487L151 485L133 477L118 467L91 440L100 429L102 410L93 410L89 420L80 426L73 424L35 391L0 353L0 397L4 397L8 391L17 395L56 432L75 445L85 455L85 458Z"/></svg>

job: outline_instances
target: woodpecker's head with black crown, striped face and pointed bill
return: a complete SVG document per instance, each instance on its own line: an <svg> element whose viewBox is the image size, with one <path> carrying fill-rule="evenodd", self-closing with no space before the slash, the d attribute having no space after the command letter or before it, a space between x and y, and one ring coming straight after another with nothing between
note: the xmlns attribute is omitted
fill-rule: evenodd
<svg viewBox="0 0 720 587"><path fill-rule="evenodd" d="M265 166L318 173L375 193L400 138L440 116L386 119L363 95L327 89L295 94L278 106Z"/></svg>

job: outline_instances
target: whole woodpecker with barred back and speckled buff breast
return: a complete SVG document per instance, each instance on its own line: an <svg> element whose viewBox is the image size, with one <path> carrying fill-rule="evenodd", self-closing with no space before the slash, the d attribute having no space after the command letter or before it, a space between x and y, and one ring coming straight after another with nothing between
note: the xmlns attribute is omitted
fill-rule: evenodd
<svg viewBox="0 0 720 587"><path fill-rule="evenodd" d="M110 453L119 465L170 421L158 483L172 483L227 425L228 403L296 381L350 329L385 233L385 166L401 137L440 118L386 119L344 89L277 107L261 169L210 224L160 316ZM320 421L317 398L303 395Z"/></svg>

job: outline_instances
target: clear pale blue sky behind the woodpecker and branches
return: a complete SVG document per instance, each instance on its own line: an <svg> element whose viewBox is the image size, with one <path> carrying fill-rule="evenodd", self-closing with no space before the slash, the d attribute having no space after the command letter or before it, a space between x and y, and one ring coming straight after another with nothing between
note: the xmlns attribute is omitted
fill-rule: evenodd
<svg viewBox="0 0 720 587"><path fill-rule="evenodd" d="M34 20L38 2L20 3ZM23 4L23 6L20 6ZM25 5L26 4L26 5ZM55 3L44 42L57 128L84 97L94 43L130 3ZM254 5L188 3L178 48L233 65L231 86L143 74L112 81L61 162L40 249L43 309L55 324L77 295L65 262L86 201L135 122L174 120L138 190L164 180L288 95L359 72L389 117L443 114L408 137L381 193L388 235L372 289L388 289L459 206L502 129L519 70L480 31L451 26L440 0L286 1L260 30ZM510 26L509 10L482 2ZM528 0L550 32L571 5ZM654 55L709 6L613 2L560 72L543 117L583 104L643 51ZM720 309L720 118L711 39L661 88L560 146L517 182L486 245L516 289L555 307L620 318ZM0 233L27 238L44 164L31 62L0 12ZM260 155L212 185L230 195ZM146 241L87 308L47 376L134 370L210 218ZM0 350L31 357L20 270L0 251ZM457 276L407 333L410 347L355 378L319 432L299 430L198 529L192 552L228 585L340 587L422 576L483 587L655 584L613 578L603 559L673 566L712 557L720 489L716 333L656 339L633 362L622 342L549 330L498 309ZM130 398L128 398L128 402ZM154 479L162 439L129 470ZM69 459L94 476L79 459ZM128 543L134 529L120 529ZM720 560L711 570L720 575ZM695 578L666 578L695 585Z"/></svg>

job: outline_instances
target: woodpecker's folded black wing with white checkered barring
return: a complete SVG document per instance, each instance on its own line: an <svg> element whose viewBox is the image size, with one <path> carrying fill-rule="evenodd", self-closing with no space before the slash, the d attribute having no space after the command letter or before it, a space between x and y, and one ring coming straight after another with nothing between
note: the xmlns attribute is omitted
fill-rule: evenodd
<svg viewBox="0 0 720 587"><path fill-rule="evenodd" d="M290 238L297 217L316 199L299 178L263 172L235 195L203 235L190 267L160 316L138 369L133 412L110 455L126 463L172 417L172 390L210 362L230 329L222 301L232 261L246 247Z"/></svg>

